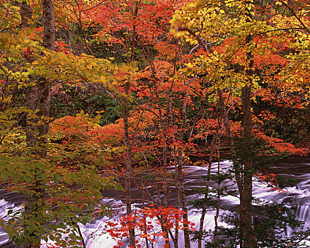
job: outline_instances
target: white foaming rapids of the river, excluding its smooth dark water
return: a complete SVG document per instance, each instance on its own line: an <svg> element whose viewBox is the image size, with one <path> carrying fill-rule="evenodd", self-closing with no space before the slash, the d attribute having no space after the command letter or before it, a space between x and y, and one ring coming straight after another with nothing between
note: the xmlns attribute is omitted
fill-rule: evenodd
<svg viewBox="0 0 310 248"><path fill-rule="evenodd" d="M310 160L309 160L310 161ZM292 186L287 188L286 190L288 192L285 193L279 193L277 191L270 191L270 188L266 186L265 184L262 184L260 182L256 182L253 185L253 196L256 198L259 198L262 201L265 201L266 203L294 203L298 205L296 218L297 220L302 220L305 222L304 228L310 227L310 164L306 163L299 163L299 165L303 165L302 171L299 169L298 173L297 171L294 171L294 164L292 164L291 167L285 167L280 168L280 174L283 176L290 176L294 179L297 179L299 182L296 186ZM228 170L229 167L231 167L231 162L224 161L221 162L221 171ZM298 167L298 164L297 164ZM309 169L305 169L309 168ZM185 189L188 189L190 187L199 187L203 186L205 184L205 181L202 180L201 176L207 174L207 168L202 167L186 167L186 170L188 171L187 176L185 176ZM212 173L216 173L217 171L217 164L213 164L212 166ZM296 173L295 173L296 172ZM305 173L306 172L306 173ZM230 188L236 188L233 182L228 182ZM215 186L215 184L211 185ZM188 202L193 201L197 199L197 195L189 195L188 196ZM171 199L173 201L173 199ZM88 248L113 248L115 245L117 245L117 241L113 239L113 237L110 237L110 235L106 232L106 224L107 222L119 222L120 217L125 214L125 205L122 203L122 201L116 201L113 199L107 199L103 200L103 204L110 204L115 210L115 215L113 216L105 216L101 220L96 220L94 222L84 225L80 225L81 231L84 236L84 241L86 242L86 247ZM236 206L239 204L239 198L235 196L224 196L221 198L221 205L222 206ZM4 218L4 220L7 218L6 215L8 213L8 208L13 208L14 205L12 203L8 203L4 201L3 199L0 200L0 218ZM139 210L139 207L141 205L134 204L134 209ZM15 206L15 209L18 209L18 206ZM219 214L220 216L224 214L229 214L228 208L227 210L220 210ZM215 210L210 210L207 212L207 215L205 216L205 222L204 227L205 230L213 230L214 229L214 215L216 214ZM200 222L200 213L193 207L190 207L188 210L188 217L190 222L193 222L195 224L195 229L199 229L199 222ZM156 220L150 220L147 219L147 221L151 222L154 226L153 232L159 232L161 230L159 223ZM219 218L219 226L222 227L229 227L224 221L222 221L221 218ZM139 233L140 230L137 230L137 233ZM287 235L291 235L292 230L287 230ZM156 247L163 247L164 240L162 237L156 238L157 242ZM128 242L127 239L122 240L124 242L124 247L127 247ZM0 247L4 245L6 242L8 242L8 235L5 234L4 230L0 230ZM173 242L171 242L171 247L173 247ZM146 247L143 240L140 240L139 242L142 245L142 248ZM183 241L183 235L182 231L180 231L179 235L179 247L183 247L184 245ZM5 245L4 245L5 247ZM42 246L44 247L44 246ZM197 247L197 242L192 242L191 247L195 248ZM310 243L309 243L310 247Z"/></svg>

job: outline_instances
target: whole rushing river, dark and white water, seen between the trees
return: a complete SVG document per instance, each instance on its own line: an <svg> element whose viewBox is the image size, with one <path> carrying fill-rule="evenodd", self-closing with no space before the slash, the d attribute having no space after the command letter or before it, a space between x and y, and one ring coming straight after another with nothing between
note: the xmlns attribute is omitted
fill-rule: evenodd
<svg viewBox="0 0 310 248"><path fill-rule="evenodd" d="M231 162L223 161L220 163L221 172L228 171L231 168ZM188 202L197 199L197 194L194 194L190 188L199 188L205 186L205 180L202 176L207 174L207 168L204 167L186 167L187 174L185 176L185 190L187 193ZM217 163L212 164L212 173L217 172ZM260 198L266 202L277 203L290 203L298 205L296 218L305 222L305 228L310 227L310 157L298 157L294 159L282 159L277 162L275 166L271 167L272 173L284 176L285 178L295 179L297 184L286 188L288 192L279 193L278 191L270 191L270 188L261 182L255 182L253 185L253 196ZM236 188L234 181L227 181L229 188ZM216 187L216 184L210 184L211 187ZM173 187L169 188L171 193L168 197L169 204L176 204L176 193L173 191ZM149 187L150 192L154 198L157 198L155 189ZM114 210L117 211L113 217L105 216L101 220L96 220L92 223L88 223L86 227L81 225L81 230L84 234L84 240L88 248L112 248L116 242L107 233L105 233L105 223L109 221L117 221L117 218L125 213L125 206L121 199L124 198L122 191L106 191L103 192L105 200L103 203L110 204ZM139 199L142 198L141 193L137 188L132 189L132 198L134 202L134 208L141 208L142 203ZM16 193L6 193L0 191L0 218L5 218L7 208L21 205L23 202L23 196ZM229 213L231 208L236 208L239 204L239 199L235 196L225 196L221 199L221 206L224 210L221 210L220 214ZM197 212L193 206L189 205L188 210L189 219L195 223L195 228L198 228L200 221L200 213ZM214 215L215 210L209 211L205 217L204 227L206 230L214 228ZM151 221L151 220L150 220ZM224 222L219 221L219 225L228 227ZM154 222L154 228L159 228L159 225ZM8 237L4 233L4 230L0 230L0 247L10 247L6 244ZM139 230L137 230L139 232ZM287 230L287 236L291 235L292 230ZM192 247L197 247L197 243L192 242ZM142 243L142 247L144 244ZM163 240L159 240L157 247L163 247ZM171 243L171 247L173 244ZM180 235L179 247L183 247L183 237ZM310 247L310 244L309 244Z"/></svg>

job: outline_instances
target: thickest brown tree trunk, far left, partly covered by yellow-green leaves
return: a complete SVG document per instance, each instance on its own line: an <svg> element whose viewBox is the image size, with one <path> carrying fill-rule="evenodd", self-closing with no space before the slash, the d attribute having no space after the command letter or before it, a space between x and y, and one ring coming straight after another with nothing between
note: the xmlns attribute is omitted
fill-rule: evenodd
<svg viewBox="0 0 310 248"><path fill-rule="evenodd" d="M28 27L28 18L30 18L30 6L23 3L21 6L21 13L25 14L22 17L22 24ZM44 26L44 41L45 48L54 50L55 42L55 26L54 26L54 7L52 0L42 1L43 18L42 23ZM26 142L28 147L33 147L32 153L36 159L46 159L47 157L47 138L46 135L49 130L49 117L50 117L50 80L41 77L34 79L37 81L36 86L30 86L26 90L26 105L31 111L38 109L37 117L27 118L26 126ZM41 211L42 206L45 204L45 183L40 178L40 174L45 173L44 168L38 168L34 163L33 165L34 181L33 184L28 186L28 194L25 200L25 235L28 235L24 247L39 247L40 246L40 232L27 231L29 223L27 220L35 218L32 225L37 225L40 228L42 225Z"/></svg>

